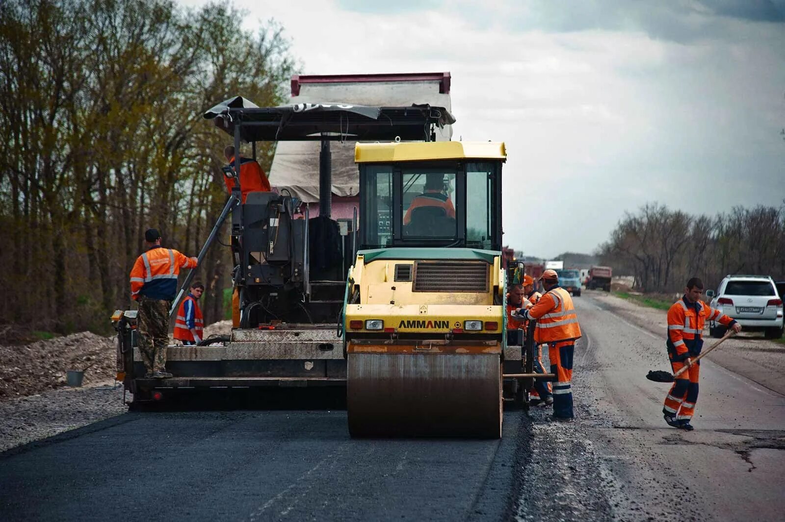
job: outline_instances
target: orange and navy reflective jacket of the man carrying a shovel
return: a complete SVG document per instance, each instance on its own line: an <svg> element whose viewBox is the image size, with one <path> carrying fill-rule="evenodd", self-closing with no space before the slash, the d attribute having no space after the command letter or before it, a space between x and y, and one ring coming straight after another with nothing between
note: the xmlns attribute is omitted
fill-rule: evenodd
<svg viewBox="0 0 785 522"><path fill-rule="evenodd" d="M696 357L703 349L703 324L706 320L718 321L725 326L736 323L720 310L696 301L690 303L685 295L668 310L668 353L673 361Z"/></svg>

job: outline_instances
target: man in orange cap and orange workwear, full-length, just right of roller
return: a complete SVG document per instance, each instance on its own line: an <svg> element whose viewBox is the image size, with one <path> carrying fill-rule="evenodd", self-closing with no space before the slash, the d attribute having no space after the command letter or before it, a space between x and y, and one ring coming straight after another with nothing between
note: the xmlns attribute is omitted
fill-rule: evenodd
<svg viewBox="0 0 785 522"><path fill-rule="evenodd" d="M554 270L542 273L546 292L535 306L518 310L517 315L529 321L537 320L535 343L548 343L550 371L553 381L553 419L571 420L572 411L572 356L575 340L581 337L581 328L570 293L560 288L559 276Z"/></svg>

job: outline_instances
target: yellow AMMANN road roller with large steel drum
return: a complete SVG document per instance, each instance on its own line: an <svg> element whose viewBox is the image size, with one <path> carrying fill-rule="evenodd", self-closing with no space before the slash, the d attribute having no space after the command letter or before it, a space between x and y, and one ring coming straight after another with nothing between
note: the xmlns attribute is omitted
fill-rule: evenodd
<svg viewBox="0 0 785 522"><path fill-rule="evenodd" d="M504 143L357 143L340 322L352 437L502 433Z"/></svg>

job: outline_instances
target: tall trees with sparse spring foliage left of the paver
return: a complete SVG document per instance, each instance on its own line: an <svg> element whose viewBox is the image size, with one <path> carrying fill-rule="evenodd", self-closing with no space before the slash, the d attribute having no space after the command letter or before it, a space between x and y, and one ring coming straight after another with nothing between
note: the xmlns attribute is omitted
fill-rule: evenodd
<svg viewBox="0 0 785 522"><path fill-rule="evenodd" d="M0 323L105 331L131 304L145 229L198 254L227 199L231 143L203 111L237 94L283 103L296 72L283 28L243 18L226 2L0 2ZM265 170L272 152L257 147ZM198 270L217 321L228 248Z"/></svg>

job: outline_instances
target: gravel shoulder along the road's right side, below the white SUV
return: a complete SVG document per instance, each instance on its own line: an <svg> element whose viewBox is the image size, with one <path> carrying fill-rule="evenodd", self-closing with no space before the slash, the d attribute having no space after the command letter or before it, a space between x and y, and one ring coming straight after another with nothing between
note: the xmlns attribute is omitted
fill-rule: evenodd
<svg viewBox="0 0 785 522"><path fill-rule="evenodd" d="M648 306L641 306L626 299L621 299L607 292L585 290L586 295L595 299L596 303L606 310L626 319L637 327L644 328L656 335L661 335L663 344L667 335L666 312ZM579 298L576 298L579 299ZM705 346L715 342L709 336L708 328L704 332ZM706 356L723 368L743 375L751 381L785 393L785 345L763 339L760 332L742 332L733 339L728 339L722 346Z"/></svg>

